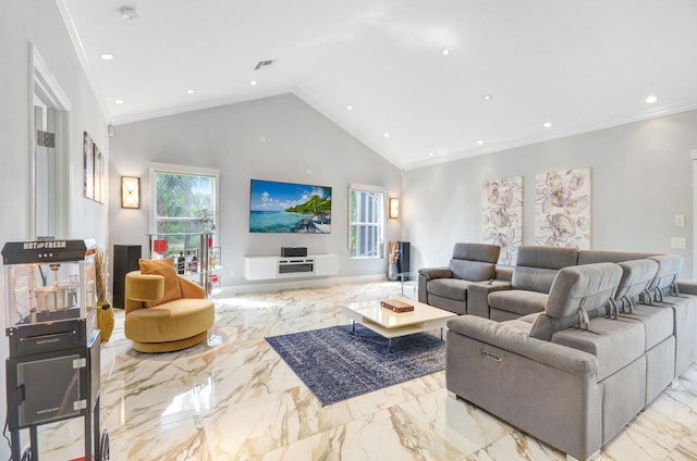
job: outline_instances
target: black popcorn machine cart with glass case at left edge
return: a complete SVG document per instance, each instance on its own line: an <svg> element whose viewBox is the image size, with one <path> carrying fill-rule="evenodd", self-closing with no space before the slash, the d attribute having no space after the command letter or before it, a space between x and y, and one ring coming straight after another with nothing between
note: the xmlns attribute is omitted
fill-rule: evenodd
<svg viewBox="0 0 697 461"><path fill-rule="evenodd" d="M96 253L90 239L7 242L2 249L13 461L39 459L38 426L80 416L85 460L109 459L109 434L99 433ZM29 431L24 453L22 429Z"/></svg>

